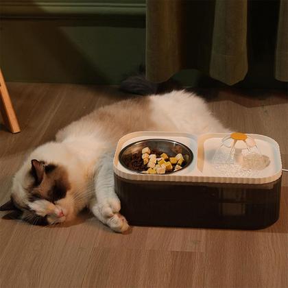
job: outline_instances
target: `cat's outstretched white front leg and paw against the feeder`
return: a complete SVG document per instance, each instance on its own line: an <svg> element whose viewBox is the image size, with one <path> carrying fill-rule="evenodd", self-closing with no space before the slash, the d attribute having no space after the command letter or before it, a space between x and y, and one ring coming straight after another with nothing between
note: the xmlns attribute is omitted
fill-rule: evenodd
<svg viewBox="0 0 288 288"><path fill-rule="evenodd" d="M114 191L113 157L106 154L97 163L95 173L96 199L90 204L93 214L116 232L125 232L129 225L119 213L121 204Z"/></svg>

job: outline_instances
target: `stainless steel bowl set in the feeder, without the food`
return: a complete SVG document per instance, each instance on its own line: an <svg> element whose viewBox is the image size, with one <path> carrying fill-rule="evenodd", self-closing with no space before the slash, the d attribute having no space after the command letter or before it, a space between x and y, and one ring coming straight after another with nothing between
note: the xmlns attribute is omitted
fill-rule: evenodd
<svg viewBox="0 0 288 288"><path fill-rule="evenodd" d="M130 154L141 152L142 149L145 147L149 147L152 150L158 149L160 152L164 152L167 155L172 156L172 157L176 156L176 154L178 153L181 153L185 160L185 164L182 166L183 169L185 167L188 167L193 160L193 153L191 149L189 149L189 147L183 145L182 143L172 141L172 140L166 140L166 139L147 139L147 140L142 140L142 141L131 143L130 145L124 147L119 153L119 161L121 165L123 165L125 168L129 169L130 171L133 171L134 173L141 173L139 171L134 171L130 169L125 159L127 159ZM178 171L182 171L182 169ZM176 173L176 172L177 171L173 171L170 173Z"/></svg>

